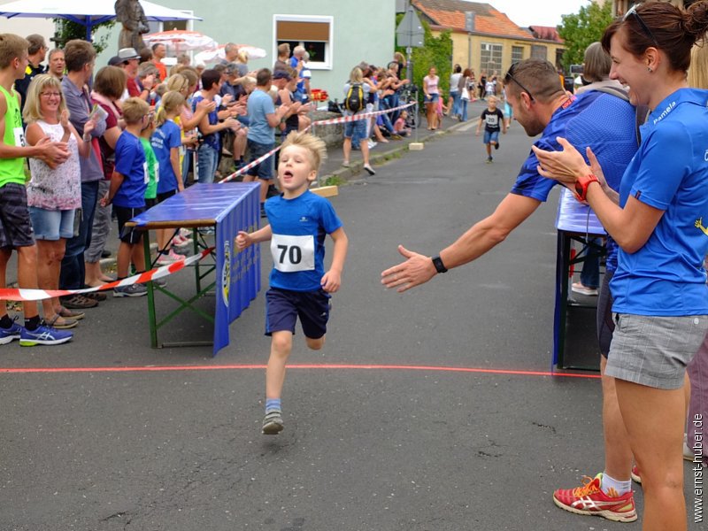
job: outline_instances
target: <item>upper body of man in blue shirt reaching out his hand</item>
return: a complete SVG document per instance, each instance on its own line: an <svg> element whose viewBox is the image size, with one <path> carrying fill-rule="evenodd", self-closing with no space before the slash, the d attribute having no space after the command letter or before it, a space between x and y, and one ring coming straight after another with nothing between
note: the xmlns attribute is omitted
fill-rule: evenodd
<svg viewBox="0 0 708 531"><path fill-rule="evenodd" d="M592 144L608 182L619 182L637 142L634 108L619 97L601 92L568 96L558 73L548 61L527 59L509 69L504 85L514 118L543 150L558 150L557 136L564 136L579 151ZM612 127L608 124L612 123ZM399 246L405 262L384 271L388 288L405 291L432 279L436 273L462 266L503 242L512 230L546 200L555 181L538 174L533 151L521 166L511 193L496 211L471 227L435 259Z"/></svg>

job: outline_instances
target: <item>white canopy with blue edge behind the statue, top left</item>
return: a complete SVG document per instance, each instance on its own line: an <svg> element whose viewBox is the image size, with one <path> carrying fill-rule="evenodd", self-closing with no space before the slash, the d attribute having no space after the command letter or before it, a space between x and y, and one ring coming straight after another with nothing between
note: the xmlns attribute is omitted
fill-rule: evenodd
<svg viewBox="0 0 708 531"><path fill-rule="evenodd" d="M148 20L202 20L145 0L141 0L140 4ZM0 17L71 20L86 27L86 40L90 41L92 27L116 18L115 0L16 0L0 4Z"/></svg>

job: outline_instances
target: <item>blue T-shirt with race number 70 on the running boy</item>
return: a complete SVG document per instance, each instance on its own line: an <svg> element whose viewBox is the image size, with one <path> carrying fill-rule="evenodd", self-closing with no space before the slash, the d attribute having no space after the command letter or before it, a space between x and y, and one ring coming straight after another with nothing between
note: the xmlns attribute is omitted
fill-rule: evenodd
<svg viewBox="0 0 708 531"><path fill-rule="evenodd" d="M266 201L273 231L271 288L316 291L325 274L325 237L342 221L332 204L307 190L295 199L283 196Z"/></svg>

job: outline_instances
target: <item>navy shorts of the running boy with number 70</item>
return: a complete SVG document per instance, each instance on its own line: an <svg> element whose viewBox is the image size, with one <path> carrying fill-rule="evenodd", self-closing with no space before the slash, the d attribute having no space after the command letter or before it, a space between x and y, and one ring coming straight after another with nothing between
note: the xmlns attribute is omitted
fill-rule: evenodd
<svg viewBox="0 0 708 531"><path fill-rule="evenodd" d="M284 330L295 334L295 322L300 318L305 337L319 339L327 333L331 307L330 296L324 289L290 291L271 288L266 292L266 335Z"/></svg>

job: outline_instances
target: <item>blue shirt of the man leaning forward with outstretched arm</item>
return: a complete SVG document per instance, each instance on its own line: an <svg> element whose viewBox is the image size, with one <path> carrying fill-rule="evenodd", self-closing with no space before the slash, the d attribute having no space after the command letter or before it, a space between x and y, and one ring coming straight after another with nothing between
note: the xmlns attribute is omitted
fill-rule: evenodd
<svg viewBox="0 0 708 531"><path fill-rule="evenodd" d="M557 136L568 140L583 158L590 146L603 168L610 188L620 189L622 174L637 150L635 108L618 96L592 90L575 98L572 104L553 113L543 135L535 142L542 150L560 150ZM612 126L610 125L612 124ZM512 194L545 201L557 181L545 179L536 171L538 159L532 150L512 188ZM617 246L607 239L607 270L617 263Z"/></svg>

